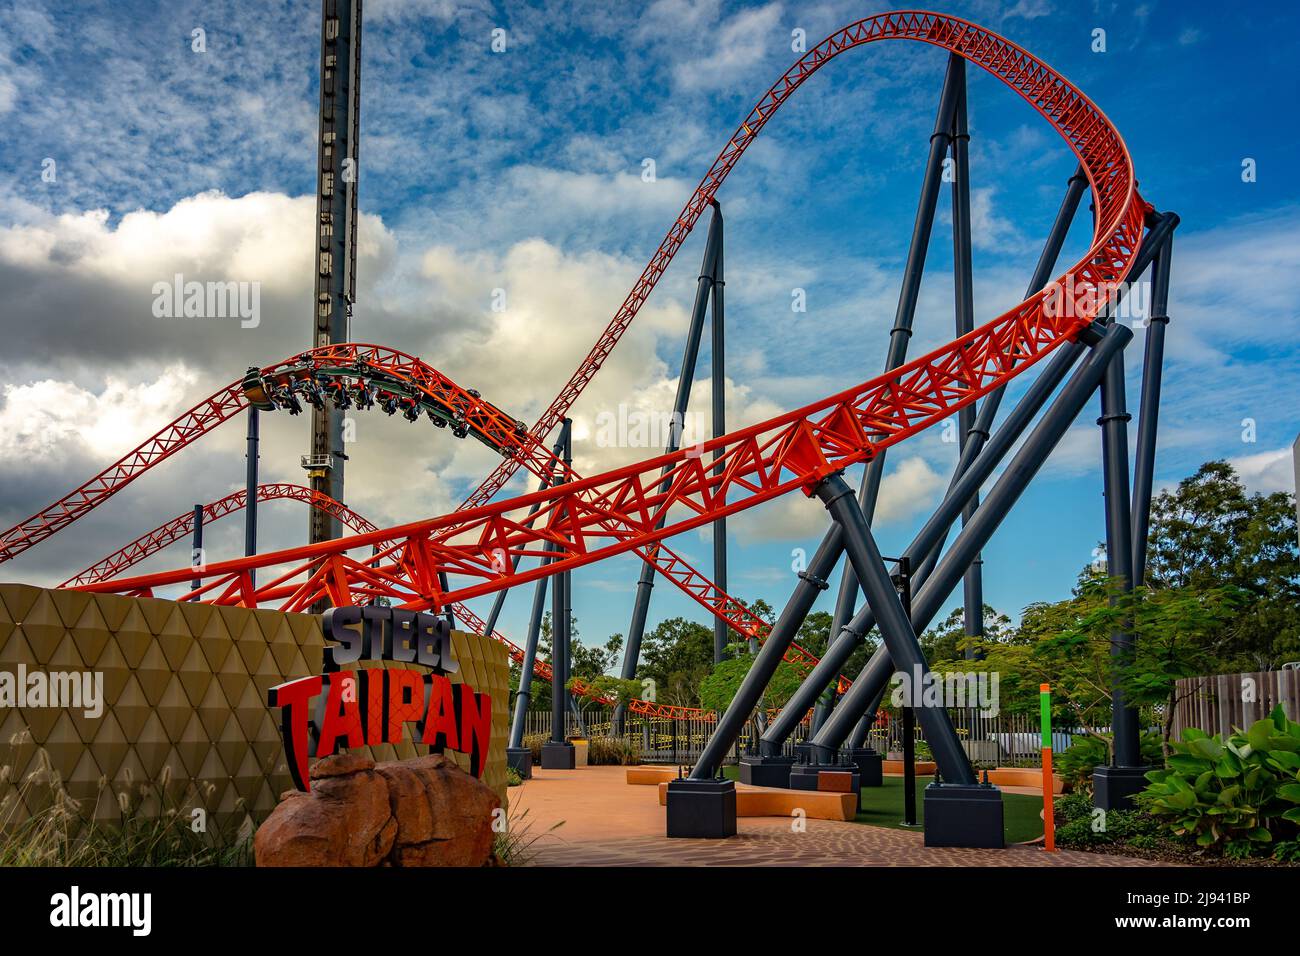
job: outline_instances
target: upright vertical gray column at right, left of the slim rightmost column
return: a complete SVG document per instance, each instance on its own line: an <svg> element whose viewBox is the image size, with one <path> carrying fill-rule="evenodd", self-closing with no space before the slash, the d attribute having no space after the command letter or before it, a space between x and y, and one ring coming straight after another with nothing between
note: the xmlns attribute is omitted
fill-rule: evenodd
<svg viewBox="0 0 1300 956"><path fill-rule="evenodd" d="M1122 594L1134 588L1132 512L1128 503L1128 410L1124 407L1124 362L1115 355L1101 382L1101 458L1106 497L1106 575L1118 579ZM1114 596L1112 604L1122 600ZM1131 627L1110 633L1110 654L1119 659L1134 648ZM1141 766L1138 710L1128 706L1118 680L1112 687L1110 726L1114 734L1112 766Z"/></svg>

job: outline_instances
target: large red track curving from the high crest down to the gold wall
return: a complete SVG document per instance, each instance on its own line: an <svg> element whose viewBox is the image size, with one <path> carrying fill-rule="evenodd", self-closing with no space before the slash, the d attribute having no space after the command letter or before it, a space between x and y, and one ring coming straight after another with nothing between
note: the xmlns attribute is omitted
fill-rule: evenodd
<svg viewBox="0 0 1300 956"><path fill-rule="evenodd" d="M205 600L286 610L317 597L335 604L386 596L410 607L442 607L545 574L580 567L616 554L653 549L666 537L702 527L796 489L809 493L828 475L864 462L878 450L928 428L1072 339L1092 321L1128 272L1141 241L1148 206L1138 195L1132 163L1118 131L1079 90L1020 47L967 21L932 13L890 13L858 21L809 51L774 85L741 124L677 217L610 328L573 378L534 425L547 434L599 368L619 336L667 268L673 252L771 116L812 73L846 49L880 39L911 39L953 51L1014 88L1062 135L1092 186L1093 245L1061 282L1080 299L1060 313L1040 293L956 342L862 385L776 419L703 444L693 453L660 455L604 475L495 503L480 503L517 467L503 462L451 515L338 541L289 549L209 566L202 575ZM1072 284L1069 285L1069 284ZM720 475L705 459L719 451ZM702 453L702 454L701 454ZM667 468L667 480L660 470ZM523 519L530 505L534 519ZM663 520L662 528L658 527ZM514 571L511 558L556 550L546 568ZM358 561L346 551L374 546ZM280 567L259 575L252 568ZM455 579L443 591L439 572ZM188 568L107 584L91 591L150 593L198 576Z"/></svg>

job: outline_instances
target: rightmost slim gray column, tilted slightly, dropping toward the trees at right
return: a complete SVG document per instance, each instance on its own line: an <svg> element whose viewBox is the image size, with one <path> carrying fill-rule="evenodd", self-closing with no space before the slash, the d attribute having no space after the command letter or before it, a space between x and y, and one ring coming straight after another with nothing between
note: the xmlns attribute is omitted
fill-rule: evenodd
<svg viewBox="0 0 1300 956"><path fill-rule="evenodd" d="M1176 224L1178 216L1166 213ZM1174 252L1170 234L1156 255L1147 311L1147 354L1138 412L1138 457L1134 462L1132 533L1134 585L1147 579L1147 532L1150 527L1150 489L1156 475L1156 428L1160 423L1160 386L1165 363L1165 328L1169 325L1169 268Z"/></svg>

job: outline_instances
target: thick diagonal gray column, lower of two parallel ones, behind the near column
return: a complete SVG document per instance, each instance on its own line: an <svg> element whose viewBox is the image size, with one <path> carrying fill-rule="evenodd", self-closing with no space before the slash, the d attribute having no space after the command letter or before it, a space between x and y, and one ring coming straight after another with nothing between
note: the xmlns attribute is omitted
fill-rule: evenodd
<svg viewBox="0 0 1300 956"><path fill-rule="evenodd" d="M953 541L953 546L944 554L924 584L919 587L913 600L913 623L918 631L924 630L942 607L971 558L988 544L998 524L1019 501L1020 494L1037 475L1046 457L1065 436L1070 423L1083 411L1113 358L1121 354L1131 339L1132 332L1130 329L1122 325L1108 328L1101 341L1093 346L1087 362L1070 377L1070 381L1052 402L1030 437L1015 453L1011 463L993 484L975 516L962 528ZM976 462L979 460L976 459ZM962 480L966 481L974 475L972 470ZM875 713L875 706L879 706L880 696L893 670L890 649L881 645L840 701L831 719L814 737L812 744L819 752L828 753L838 748L853 730L854 723L867 713L868 705L874 705L871 713Z"/></svg>

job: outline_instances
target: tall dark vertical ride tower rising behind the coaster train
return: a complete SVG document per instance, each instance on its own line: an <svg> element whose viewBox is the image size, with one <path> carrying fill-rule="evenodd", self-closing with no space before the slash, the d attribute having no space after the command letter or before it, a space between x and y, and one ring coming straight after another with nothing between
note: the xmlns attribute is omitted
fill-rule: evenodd
<svg viewBox="0 0 1300 956"><path fill-rule="evenodd" d="M316 300L312 346L347 342L356 299L356 186L361 94L361 0L321 3L320 164L316 170ZM343 501L343 414L312 408L311 486ZM312 544L339 536L339 523L311 509Z"/></svg>

